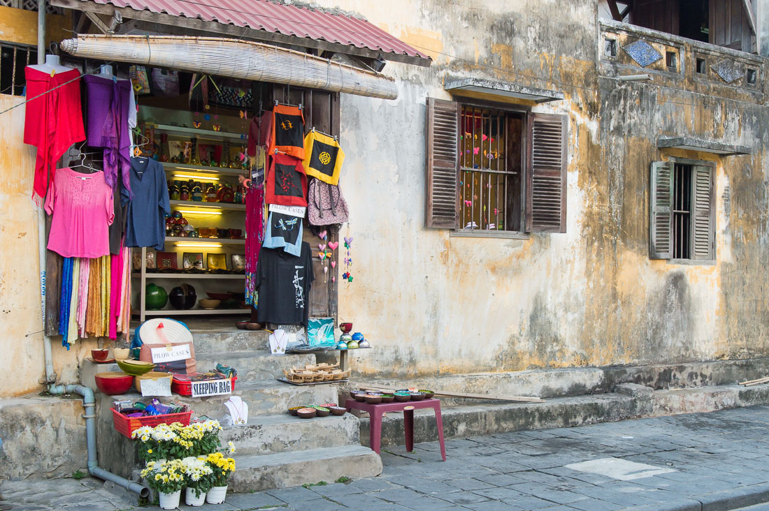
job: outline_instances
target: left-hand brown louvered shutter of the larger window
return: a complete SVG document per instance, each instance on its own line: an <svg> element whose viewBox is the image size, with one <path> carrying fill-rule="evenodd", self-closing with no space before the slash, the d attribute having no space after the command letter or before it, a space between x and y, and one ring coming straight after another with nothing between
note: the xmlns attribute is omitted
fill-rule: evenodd
<svg viewBox="0 0 769 511"><path fill-rule="evenodd" d="M459 104L427 99L425 223L428 227L456 229L459 227Z"/></svg>

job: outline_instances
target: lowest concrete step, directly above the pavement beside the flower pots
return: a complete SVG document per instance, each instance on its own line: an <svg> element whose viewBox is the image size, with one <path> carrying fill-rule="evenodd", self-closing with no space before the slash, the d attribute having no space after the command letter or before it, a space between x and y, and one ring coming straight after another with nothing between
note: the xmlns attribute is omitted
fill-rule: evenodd
<svg viewBox="0 0 769 511"><path fill-rule="evenodd" d="M363 446L327 447L293 453L238 456L229 479L235 493L288 488L305 483L331 483L341 476L373 477L382 471L381 458Z"/></svg>

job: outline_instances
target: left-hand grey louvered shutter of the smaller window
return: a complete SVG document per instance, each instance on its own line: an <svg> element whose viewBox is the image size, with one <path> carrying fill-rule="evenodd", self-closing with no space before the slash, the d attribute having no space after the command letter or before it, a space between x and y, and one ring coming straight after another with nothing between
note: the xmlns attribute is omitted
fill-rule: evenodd
<svg viewBox="0 0 769 511"><path fill-rule="evenodd" d="M670 259L673 253L673 164L651 162L649 258Z"/></svg>

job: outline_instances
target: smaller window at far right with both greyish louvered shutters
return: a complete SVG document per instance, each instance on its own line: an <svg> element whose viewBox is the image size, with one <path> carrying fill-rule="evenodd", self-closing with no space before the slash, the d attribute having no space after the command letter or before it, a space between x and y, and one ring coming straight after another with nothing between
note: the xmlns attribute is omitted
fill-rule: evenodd
<svg viewBox="0 0 769 511"><path fill-rule="evenodd" d="M714 260L714 166L700 161L651 164L652 259Z"/></svg>

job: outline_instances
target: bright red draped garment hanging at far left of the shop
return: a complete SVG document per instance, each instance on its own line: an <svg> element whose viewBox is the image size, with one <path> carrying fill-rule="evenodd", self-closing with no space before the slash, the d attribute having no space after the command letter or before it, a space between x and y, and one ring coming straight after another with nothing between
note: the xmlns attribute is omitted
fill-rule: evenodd
<svg viewBox="0 0 769 511"><path fill-rule="evenodd" d="M24 74L30 98L25 112L24 143L38 149L32 200L42 205L48 182L55 177L56 162L72 144L85 140L80 71L72 69L52 76L27 66Z"/></svg>

